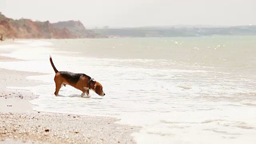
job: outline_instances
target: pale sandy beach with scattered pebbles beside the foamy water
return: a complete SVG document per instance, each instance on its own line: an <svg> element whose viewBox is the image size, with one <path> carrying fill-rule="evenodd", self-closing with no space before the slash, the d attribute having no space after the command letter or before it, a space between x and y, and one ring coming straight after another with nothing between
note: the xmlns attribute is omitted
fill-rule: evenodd
<svg viewBox="0 0 256 144"><path fill-rule="evenodd" d="M0 56L0 61L18 61ZM6 86L36 86L40 81L26 76L42 73L0 69L0 144L134 144L130 134L138 127L116 124L118 119L32 110L29 100L38 98L26 90Z"/></svg>

